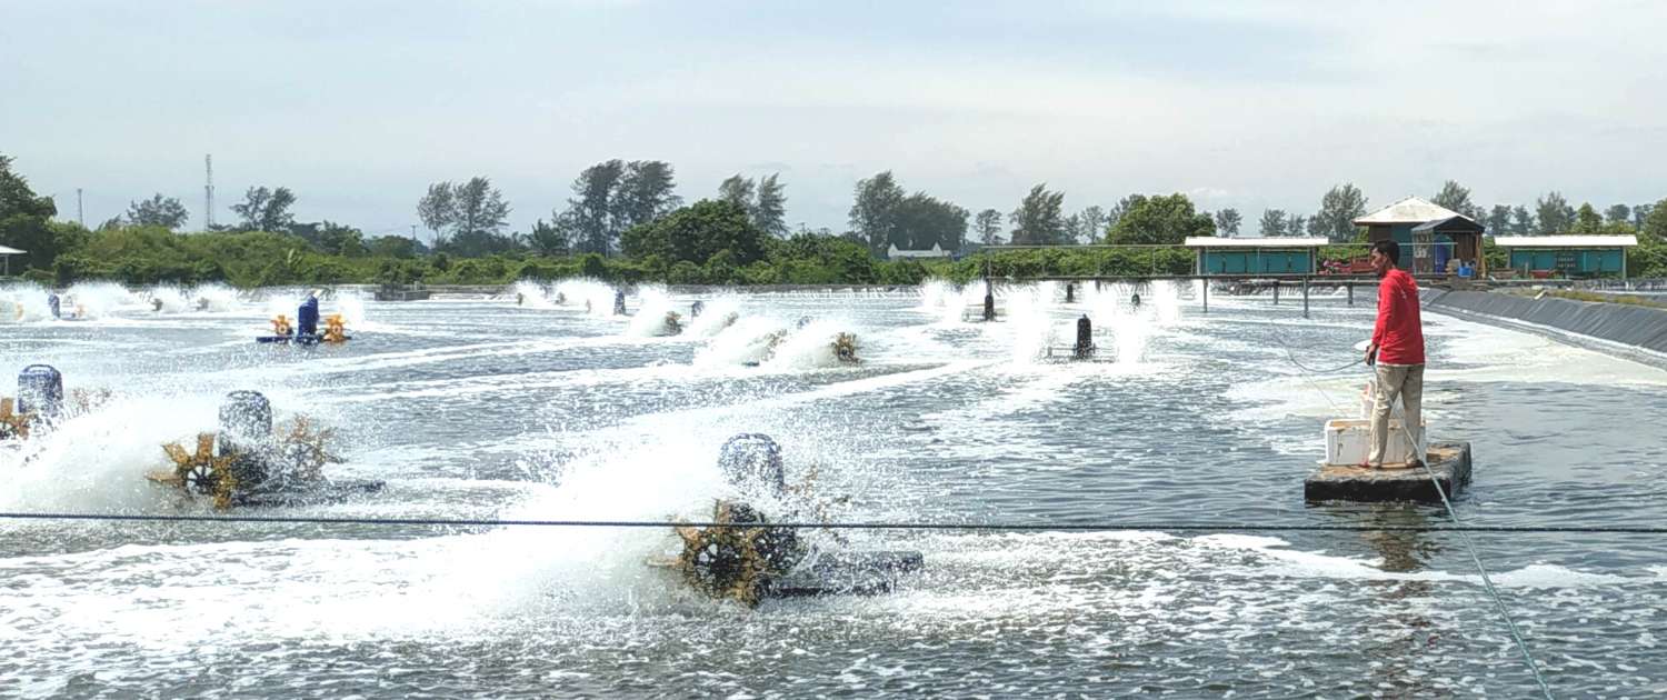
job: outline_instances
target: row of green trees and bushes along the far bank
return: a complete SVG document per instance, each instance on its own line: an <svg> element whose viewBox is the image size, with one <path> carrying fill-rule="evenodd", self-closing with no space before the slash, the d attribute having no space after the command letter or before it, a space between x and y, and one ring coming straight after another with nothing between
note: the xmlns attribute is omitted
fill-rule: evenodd
<svg viewBox="0 0 1667 700"><path fill-rule="evenodd" d="M0 155L0 243L28 253L22 268L42 282L78 278L123 282L207 282L277 285L305 282L502 282L513 275L600 275L618 280L683 283L905 283L929 270L970 273L960 263L887 262L885 252L972 253L984 245L1114 243L1179 247L1189 237L1239 235L1235 208L1200 210L1184 193L1132 193L1109 207L1065 210L1065 193L1034 185L1010 212L972 213L925 190L909 192L890 172L855 183L849 227L787 227L787 185L780 173L725 178L708 198L685 203L675 170L660 160L605 160L578 172L562 205L527 232L510 232L510 203L483 175L435 182L417 197L415 213L433 232L425 245L407 235L367 235L335 222L297 222L297 193L287 187L250 187L230 210L235 220L212 232L182 235L190 212L175 198L135 200L95 230L57 222L50 198L35 195ZM1484 210L1457 182L1432 202L1477 218L1499 235L1640 233L1639 275L1667 275L1667 207L1572 207L1550 192L1532 208ZM1312 215L1270 208L1264 235L1312 235L1335 243L1357 240L1354 218L1370 202L1354 183L1327 190ZM1007 253L1004 253L1007 255ZM1144 253L1142 253L1144 255ZM1147 273L1159 267L1187 272L1185 250L1150 255L1007 255L1025 265L1084 267L1094 273ZM253 262L240 257L252 257ZM1659 260L1659 270L1650 267ZM1074 267L1075 265L1075 267ZM1107 267L1110 265L1110 267ZM17 265L13 265L17 267ZM959 272L957 272L959 270ZM970 270L970 268L969 268Z"/></svg>

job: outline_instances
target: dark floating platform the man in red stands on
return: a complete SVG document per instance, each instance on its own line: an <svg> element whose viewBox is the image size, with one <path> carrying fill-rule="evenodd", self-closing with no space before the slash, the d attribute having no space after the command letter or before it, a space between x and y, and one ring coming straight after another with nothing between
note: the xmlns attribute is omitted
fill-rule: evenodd
<svg viewBox="0 0 1667 700"><path fill-rule="evenodd" d="M1430 467L1429 473L1422 468L1407 468L1404 465L1387 465L1385 468L1320 465L1302 483L1302 497L1309 502L1412 500L1440 503L1442 497L1435 492L1430 473L1440 482L1449 498L1459 495L1470 483L1469 442L1430 443L1425 463Z"/></svg>

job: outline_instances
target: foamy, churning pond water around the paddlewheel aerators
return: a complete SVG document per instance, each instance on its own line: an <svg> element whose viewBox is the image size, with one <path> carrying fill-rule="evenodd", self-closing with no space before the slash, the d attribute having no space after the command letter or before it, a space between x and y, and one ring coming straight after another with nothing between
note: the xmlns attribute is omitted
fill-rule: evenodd
<svg viewBox="0 0 1667 700"><path fill-rule="evenodd" d="M1130 297L1142 293L1134 307ZM1370 293L1197 285L497 298L327 295L353 340L257 345L295 290L0 292L0 377L108 388L0 450L0 510L212 513L143 478L163 442L263 392L335 430L382 493L265 515L663 520L732 497L735 433L815 473L837 522L1442 525L1435 505L1305 505L1352 417ZM705 308L687 318L693 300ZM162 300L153 310L152 300ZM587 312L585 305L590 305ZM665 332L683 315L680 335ZM1095 362L1059 362L1075 320ZM808 318L800 325L802 318ZM1469 440L1474 525L1660 525L1667 372L1425 315L1432 438ZM854 333L860 363L840 363ZM778 338L765 353L767 338ZM10 380L7 380L10 382ZM875 597L748 610L645 565L667 530L0 520L0 695L20 697L1527 697L1455 533L860 530L922 552ZM1667 545L1472 535L1559 697L1667 693Z"/></svg>

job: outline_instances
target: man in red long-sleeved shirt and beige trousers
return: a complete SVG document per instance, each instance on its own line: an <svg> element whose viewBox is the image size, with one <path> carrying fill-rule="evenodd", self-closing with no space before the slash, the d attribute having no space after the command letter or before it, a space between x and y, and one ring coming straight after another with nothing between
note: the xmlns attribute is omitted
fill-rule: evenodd
<svg viewBox="0 0 1667 700"><path fill-rule="evenodd" d="M1372 345L1365 348L1365 363L1377 365L1377 403L1372 405L1372 452L1364 467L1384 465L1389 412L1397 397L1407 408L1407 435L1414 445L1414 458L1407 467L1417 467L1424 462L1424 322L1419 318L1419 283L1395 268L1400 243L1394 240L1372 243L1370 260L1372 272L1379 277L1377 325L1372 328Z"/></svg>

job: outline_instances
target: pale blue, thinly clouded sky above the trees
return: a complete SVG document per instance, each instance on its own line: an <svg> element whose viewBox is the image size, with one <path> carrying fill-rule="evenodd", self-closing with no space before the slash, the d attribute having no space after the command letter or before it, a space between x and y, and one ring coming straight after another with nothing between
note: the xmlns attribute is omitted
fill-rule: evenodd
<svg viewBox="0 0 1667 700"><path fill-rule="evenodd" d="M302 222L410 233L488 177L512 230L608 160L678 193L780 173L797 228L859 178L972 212L1184 192L1204 210L1667 197L1660 2L0 0L0 153L60 218L152 193L202 225L248 187Z"/></svg>

